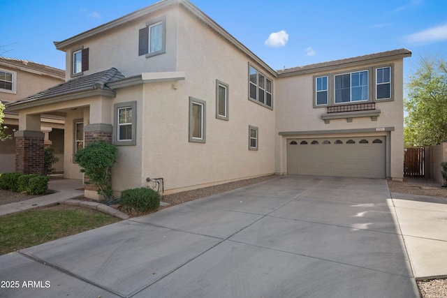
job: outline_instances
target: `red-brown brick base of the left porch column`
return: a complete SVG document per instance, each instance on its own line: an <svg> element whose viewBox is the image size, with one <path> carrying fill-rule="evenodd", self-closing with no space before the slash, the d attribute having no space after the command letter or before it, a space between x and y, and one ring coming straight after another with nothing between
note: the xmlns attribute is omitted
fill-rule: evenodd
<svg viewBox="0 0 447 298"><path fill-rule="evenodd" d="M43 174L44 137L40 131L16 131L15 171L21 174Z"/></svg>

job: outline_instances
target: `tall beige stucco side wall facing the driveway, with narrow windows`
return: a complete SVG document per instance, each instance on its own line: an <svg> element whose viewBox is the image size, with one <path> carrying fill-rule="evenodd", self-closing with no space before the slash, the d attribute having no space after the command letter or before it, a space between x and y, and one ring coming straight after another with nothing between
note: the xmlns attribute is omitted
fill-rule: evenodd
<svg viewBox="0 0 447 298"><path fill-rule="evenodd" d="M184 10L178 14L177 70L186 78L143 87L142 183L163 177L166 190L179 191L274 172L274 112L248 100L251 61ZM229 85L228 121L215 117L216 80ZM205 144L189 142L189 96L206 102ZM258 151L248 149L249 125L259 128Z"/></svg>

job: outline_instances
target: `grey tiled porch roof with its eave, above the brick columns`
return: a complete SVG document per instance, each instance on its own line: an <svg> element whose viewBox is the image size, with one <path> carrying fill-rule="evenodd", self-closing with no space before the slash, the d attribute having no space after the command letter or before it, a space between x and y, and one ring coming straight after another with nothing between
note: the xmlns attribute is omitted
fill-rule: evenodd
<svg viewBox="0 0 447 298"><path fill-rule="evenodd" d="M83 75L41 91L38 94L17 100L15 103L10 103L8 109L16 110L16 105L23 108L25 105L43 105L49 101L56 103L85 96L104 95L115 97L115 90L107 87L107 84L123 78L124 75L117 68L110 68L99 73L92 73L91 75Z"/></svg>

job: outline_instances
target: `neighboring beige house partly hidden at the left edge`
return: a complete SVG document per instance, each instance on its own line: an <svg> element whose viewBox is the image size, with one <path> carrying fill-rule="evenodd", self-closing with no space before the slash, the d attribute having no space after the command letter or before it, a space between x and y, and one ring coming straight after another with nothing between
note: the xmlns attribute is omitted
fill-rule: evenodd
<svg viewBox="0 0 447 298"><path fill-rule="evenodd" d="M33 61L0 57L0 101L7 105L36 94L42 89L65 82L65 71ZM17 112L5 111L6 133L19 129ZM64 117L43 114L38 131L45 134L45 145L52 146L58 157L64 156ZM54 165L64 170L63 163ZM0 142L0 173L15 171L15 140Z"/></svg>

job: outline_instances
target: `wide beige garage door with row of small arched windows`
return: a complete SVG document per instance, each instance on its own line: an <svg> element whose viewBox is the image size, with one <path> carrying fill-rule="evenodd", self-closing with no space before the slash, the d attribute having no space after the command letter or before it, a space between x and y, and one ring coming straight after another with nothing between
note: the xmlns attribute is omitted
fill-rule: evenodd
<svg viewBox="0 0 447 298"><path fill-rule="evenodd" d="M386 178L385 137L287 140L287 173Z"/></svg>

